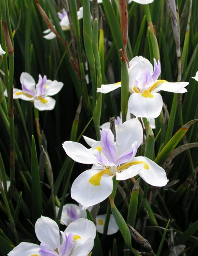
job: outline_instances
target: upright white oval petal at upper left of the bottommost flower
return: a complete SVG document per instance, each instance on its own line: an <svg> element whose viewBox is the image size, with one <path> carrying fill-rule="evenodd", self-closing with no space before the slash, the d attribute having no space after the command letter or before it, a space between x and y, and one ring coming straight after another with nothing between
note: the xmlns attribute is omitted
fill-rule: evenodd
<svg viewBox="0 0 198 256"><path fill-rule="evenodd" d="M41 216L35 223L35 233L38 240L49 248L60 246L59 227L51 218Z"/></svg>

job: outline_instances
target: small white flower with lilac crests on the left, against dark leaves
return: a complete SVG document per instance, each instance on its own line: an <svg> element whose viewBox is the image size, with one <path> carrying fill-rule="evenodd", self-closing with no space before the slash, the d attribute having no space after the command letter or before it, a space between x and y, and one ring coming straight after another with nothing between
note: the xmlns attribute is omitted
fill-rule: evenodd
<svg viewBox="0 0 198 256"><path fill-rule="evenodd" d="M41 75L39 75L39 80L36 84L33 77L26 72L21 74L20 82L22 90L14 88L13 98L32 101L38 110L52 110L56 101L49 96L57 94L63 86L62 82L49 80L46 76L42 78ZM7 97L7 91L4 91L4 95Z"/></svg>

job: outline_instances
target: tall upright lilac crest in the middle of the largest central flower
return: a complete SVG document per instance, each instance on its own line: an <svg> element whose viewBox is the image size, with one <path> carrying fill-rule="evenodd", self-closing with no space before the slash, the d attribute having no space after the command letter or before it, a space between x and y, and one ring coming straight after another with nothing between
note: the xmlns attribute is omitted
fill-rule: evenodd
<svg viewBox="0 0 198 256"><path fill-rule="evenodd" d="M102 130L100 143L102 147L102 152L106 156L108 161L114 162L117 157L117 148L111 130Z"/></svg>

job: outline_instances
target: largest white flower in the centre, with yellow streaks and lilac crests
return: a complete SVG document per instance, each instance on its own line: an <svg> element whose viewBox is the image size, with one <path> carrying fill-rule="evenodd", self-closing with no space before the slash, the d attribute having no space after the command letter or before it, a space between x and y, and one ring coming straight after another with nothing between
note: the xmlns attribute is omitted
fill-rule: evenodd
<svg viewBox="0 0 198 256"><path fill-rule="evenodd" d="M168 179L159 165L146 157L135 157L142 139L142 124L133 118L120 125L116 142L111 130L102 130L100 141L88 138L90 149L78 142L65 141L63 148L69 157L94 165L74 180L71 197L85 208L100 203L111 195L114 176L126 180L139 174L152 186L165 186Z"/></svg>

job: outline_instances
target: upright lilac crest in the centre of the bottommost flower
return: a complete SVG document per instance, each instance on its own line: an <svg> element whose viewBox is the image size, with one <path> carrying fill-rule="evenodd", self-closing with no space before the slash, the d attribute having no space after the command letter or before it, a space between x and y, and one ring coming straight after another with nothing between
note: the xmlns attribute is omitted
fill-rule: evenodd
<svg viewBox="0 0 198 256"><path fill-rule="evenodd" d="M66 236L64 232L61 232L63 237L64 242L61 244L59 248L59 254L61 256L69 256L73 247L74 247L74 235L69 234Z"/></svg>

